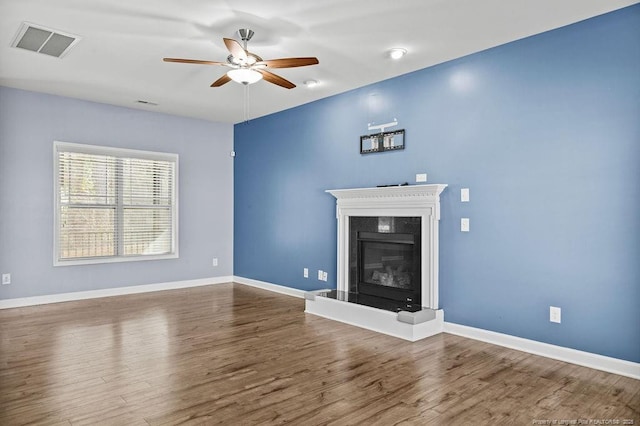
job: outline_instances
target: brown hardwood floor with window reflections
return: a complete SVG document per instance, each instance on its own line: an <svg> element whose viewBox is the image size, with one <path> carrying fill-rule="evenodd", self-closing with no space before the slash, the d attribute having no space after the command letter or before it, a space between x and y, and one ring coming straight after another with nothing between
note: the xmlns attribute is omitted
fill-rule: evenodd
<svg viewBox="0 0 640 426"><path fill-rule="evenodd" d="M303 309L222 284L0 310L0 425L640 424L638 380Z"/></svg>

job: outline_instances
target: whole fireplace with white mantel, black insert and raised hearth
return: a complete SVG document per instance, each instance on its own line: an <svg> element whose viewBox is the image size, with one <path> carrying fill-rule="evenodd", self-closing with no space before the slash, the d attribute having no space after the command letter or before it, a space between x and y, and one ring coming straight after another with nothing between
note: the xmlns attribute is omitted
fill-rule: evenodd
<svg viewBox="0 0 640 426"><path fill-rule="evenodd" d="M336 198L337 288L307 293L305 311L411 341L442 332L438 225L446 187L326 191ZM379 291L400 304L378 309L362 303Z"/></svg>

